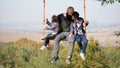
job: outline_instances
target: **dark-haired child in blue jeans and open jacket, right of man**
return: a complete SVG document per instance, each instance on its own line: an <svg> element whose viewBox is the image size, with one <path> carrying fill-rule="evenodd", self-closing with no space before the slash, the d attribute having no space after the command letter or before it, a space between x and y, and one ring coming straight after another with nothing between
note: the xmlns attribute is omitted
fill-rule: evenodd
<svg viewBox="0 0 120 68"><path fill-rule="evenodd" d="M72 19L73 22L71 24L71 31L69 37L71 37L73 34L75 35L75 39L78 43L79 48L81 49L80 56L83 60L85 60L88 40L86 39L85 31L84 31L84 26L85 26L84 20L83 18L79 17L78 12L73 13ZM83 45L81 42L83 42Z"/></svg>

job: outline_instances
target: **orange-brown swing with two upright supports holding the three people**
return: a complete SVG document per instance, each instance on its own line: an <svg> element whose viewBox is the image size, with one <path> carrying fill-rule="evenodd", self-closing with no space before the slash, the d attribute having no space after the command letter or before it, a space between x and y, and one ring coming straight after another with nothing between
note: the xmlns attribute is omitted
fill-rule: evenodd
<svg viewBox="0 0 120 68"><path fill-rule="evenodd" d="M45 16L46 16L46 0L43 0L43 26L45 25ZM86 32L86 26L89 24L89 22L86 20L86 0L84 0L84 30L85 30L85 36L87 36ZM44 27L43 27L44 28ZM45 29L42 30L42 37L41 40L45 40Z"/></svg>

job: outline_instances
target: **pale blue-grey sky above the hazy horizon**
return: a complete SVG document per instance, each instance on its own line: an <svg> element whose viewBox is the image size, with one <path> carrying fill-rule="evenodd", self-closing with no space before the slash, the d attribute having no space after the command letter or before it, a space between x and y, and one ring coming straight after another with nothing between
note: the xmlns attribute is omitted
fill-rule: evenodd
<svg viewBox="0 0 120 68"><path fill-rule="evenodd" d="M73 6L83 16L83 0L47 0L46 17L66 12ZM120 3L103 5L86 0L87 20L97 23L120 23ZM0 23L42 23L43 0L0 0Z"/></svg>

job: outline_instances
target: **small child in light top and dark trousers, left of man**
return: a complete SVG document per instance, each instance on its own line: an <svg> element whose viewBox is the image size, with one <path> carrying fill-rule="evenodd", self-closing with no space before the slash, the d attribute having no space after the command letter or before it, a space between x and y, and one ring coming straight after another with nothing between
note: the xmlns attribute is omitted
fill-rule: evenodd
<svg viewBox="0 0 120 68"><path fill-rule="evenodd" d="M52 16L52 23L50 23L48 19L46 19L45 29L52 30L53 32L47 35L44 41L44 45L40 48L40 50L48 49L49 41L51 39L54 39L58 34L59 28L58 28L58 19L56 15Z"/></svg>

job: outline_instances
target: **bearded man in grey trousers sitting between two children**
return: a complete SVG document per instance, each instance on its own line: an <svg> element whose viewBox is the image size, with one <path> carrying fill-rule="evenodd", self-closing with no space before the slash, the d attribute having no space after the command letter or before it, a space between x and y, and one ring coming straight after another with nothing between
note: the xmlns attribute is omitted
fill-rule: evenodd
<svg viewBox="0 0 120 68"><path fill-rule="evenodd" d="M74 8L73 7L68 7L66 13L58 15L58 21L59 21L61 33L59 33L55 38L54 57L53 57L51 63L54 63L58 60L58 58L59 58L58 57L59 42L61 40L65 39L65 38L69 41L69 44L70 44L70 47L69 47L69 50L68 50L68 58L67 58L66 62L68 64L71 63L75 38L74 38L74 36L69 37L69 32L70 32L70 25L71 25L71 22L72 22L73 12L74 12Z"/></svg>

